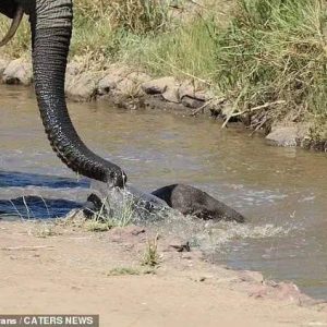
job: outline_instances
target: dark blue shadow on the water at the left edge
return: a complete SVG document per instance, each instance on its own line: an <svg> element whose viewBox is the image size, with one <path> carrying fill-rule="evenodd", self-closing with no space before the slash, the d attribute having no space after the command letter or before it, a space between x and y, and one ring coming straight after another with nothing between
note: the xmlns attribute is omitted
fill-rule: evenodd
<svg viewBox="0 0 327 327"><path fill-rule="evenodd" d="M17 190L24 187L47 187L47 189L87 189L87 180L76 181L70 178L56 175L25 173L17 171L0 171L0 189ZM32 190L32 189L31 189ZM28 193L28 191L27 191ZM56 196L56 191L52 191ZM10 195L10 194L9 194ZM8 197L8 196L7 196ZM40 195L23 195L17 197L0 199L0 217L21 217L27 219L57 218L65 216L70 210L82 207L81 202L64 198L50 198Z"/></svg>

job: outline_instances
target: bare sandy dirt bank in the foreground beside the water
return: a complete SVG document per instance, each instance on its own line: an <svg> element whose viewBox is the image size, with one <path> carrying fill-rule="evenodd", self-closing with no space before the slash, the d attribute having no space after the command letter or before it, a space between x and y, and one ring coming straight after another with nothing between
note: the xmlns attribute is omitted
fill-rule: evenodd
<svg viewBox="0 0 327 327"><path fill-rule="evenodd" d="M2 313L92 313L120 327L327 326L326 305L293 284L213 266L177 252L178 240L160 238L159 267L141 266L154 237L142 228L49 234L43 223L0 222Z"/></svg>

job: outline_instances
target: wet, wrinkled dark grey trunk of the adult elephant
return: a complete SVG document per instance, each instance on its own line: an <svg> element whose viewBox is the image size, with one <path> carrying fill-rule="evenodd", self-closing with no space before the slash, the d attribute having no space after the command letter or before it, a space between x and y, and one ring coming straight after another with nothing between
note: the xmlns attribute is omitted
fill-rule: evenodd
<svg viewBox="0 0 327 327"><path fill-rule="evenodd" d="M85 146L68 112L64 76L72 34L72 1L35 0L29 15L36 97L53 150L75 172L122 187L124 172Z"/></svg>

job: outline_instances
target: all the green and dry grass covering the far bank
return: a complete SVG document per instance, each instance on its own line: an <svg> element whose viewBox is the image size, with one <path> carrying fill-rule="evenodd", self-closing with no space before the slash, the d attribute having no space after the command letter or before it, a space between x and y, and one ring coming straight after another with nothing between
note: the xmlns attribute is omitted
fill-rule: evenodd
<svg viewBox="0 0 327 327"><path fill-rule="evenodd" d="M245 113L254 129L308 121L312 138L327 138L325 1L229 3L75 0L71 57L86 69L124 62L193 80L230 99L231 116ZM21 57L28 48L24 22L4 51Z"/></svg>

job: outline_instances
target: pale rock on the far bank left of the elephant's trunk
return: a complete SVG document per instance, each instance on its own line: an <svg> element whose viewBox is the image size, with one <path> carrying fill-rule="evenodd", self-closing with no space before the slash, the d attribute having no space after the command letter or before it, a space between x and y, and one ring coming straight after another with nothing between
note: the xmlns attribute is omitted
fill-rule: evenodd
<svg viewBox="0 0 327 327"><path fill-rule="evenodd" d="M33 81L32 64L22 59L11 61L3 71L2 81L5 84L29 85Z"/></svg>

